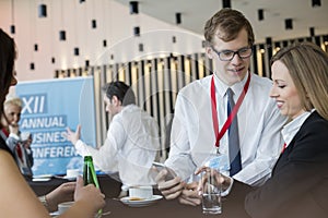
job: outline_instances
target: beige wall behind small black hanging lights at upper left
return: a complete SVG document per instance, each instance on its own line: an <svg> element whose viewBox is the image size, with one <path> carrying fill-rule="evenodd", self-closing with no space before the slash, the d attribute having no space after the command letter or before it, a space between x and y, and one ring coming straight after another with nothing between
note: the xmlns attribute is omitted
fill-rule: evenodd
<svg viewBox="0 0 328 218"><path fill-rule="evenodd" d="M12 2L14 10L12 17ZM38 17L38 5L47 5L47 17ZM140 10L142 11L142 4ZM131 15L129 8L114 0L0 0L0 27L10 33L12 19L16 33L19 81L52 78L56 69L72 69L90 64L126 62L151 58L167 52L192 53L202 51L202 36L186 32L142 13ZM97 28L91 21L97 21ZM133 37L133 26L139 25L141 37ZM67 32L67 40L59 40L59 31ZM172 44L172 36L177 43ZM107 47L103 47L103 40ZM144 44L144 51L138 45ZM34 51L34 44L38 51ZM73 48L80 56L73 56ZM114 60L110 60L114 55ZM56 63L51 63L51 57ZM30 70L30 63L35 70Z"/></svg>

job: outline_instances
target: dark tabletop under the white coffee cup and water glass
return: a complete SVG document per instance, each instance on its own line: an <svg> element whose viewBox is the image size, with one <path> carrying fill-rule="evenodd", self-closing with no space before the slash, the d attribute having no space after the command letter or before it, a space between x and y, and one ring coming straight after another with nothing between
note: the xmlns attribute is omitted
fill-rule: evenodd
<svg viewBox="0 0 328 218"><path fill-rule="evenodd" d="M162 198L153 205L147 207L130 207L116 199L120 192L121 183L112 179L109 175L98 175L99 185L102 192L106 195L106 206L103 209L104 213L110 211L110 214L103 217L112 218L249 218L244 208L244 196L246 191L243 186L234 185L229 198L224 198L222 202L221 215L203 215L201 206L187 206L178 203L177 199L167 201ZM31 187L37 195L46 194L54 190L59 184L67 182L62 179L51 179L48 182L28 182ZM155 194L160 194L157 190L154 190Z"/></svg>

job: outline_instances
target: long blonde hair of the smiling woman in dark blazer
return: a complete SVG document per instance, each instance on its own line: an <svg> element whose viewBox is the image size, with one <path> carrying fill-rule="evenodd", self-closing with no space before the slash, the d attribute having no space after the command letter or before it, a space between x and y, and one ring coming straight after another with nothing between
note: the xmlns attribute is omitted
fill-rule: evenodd
<svg viewBox="0 0 328 218"><path fill-rule="evenodd" d="M315 108L328 120L328 55L312 43L297 43L282 48L271 59L281 61L291 74L302 108Z"/></svg>

